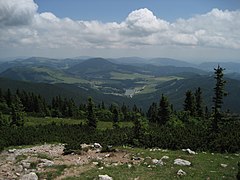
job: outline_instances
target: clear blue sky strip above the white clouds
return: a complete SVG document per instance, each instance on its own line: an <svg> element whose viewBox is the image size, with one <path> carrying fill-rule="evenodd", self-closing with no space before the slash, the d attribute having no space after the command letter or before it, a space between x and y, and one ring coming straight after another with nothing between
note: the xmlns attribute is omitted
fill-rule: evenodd
<svg viewBox="0 0 240 180"><path fill-rule="evenodd" d="M58 17L75 20L123 21L133 10L148 8L168 21L190 18L213 8L236 10L239 0L35 0L39 12L50 11Z"/></svg>

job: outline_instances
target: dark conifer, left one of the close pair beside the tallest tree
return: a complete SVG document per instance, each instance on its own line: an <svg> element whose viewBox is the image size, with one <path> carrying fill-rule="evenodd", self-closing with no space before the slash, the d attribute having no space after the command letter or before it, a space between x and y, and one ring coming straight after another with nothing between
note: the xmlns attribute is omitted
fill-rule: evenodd
<svg viewBox="0 0 240 180"><path fill-rule="evenodd" d="M186 98L184 100L184 111L189 111L191 116L196 115L196 102L192 91L186 92Z"/></svg>

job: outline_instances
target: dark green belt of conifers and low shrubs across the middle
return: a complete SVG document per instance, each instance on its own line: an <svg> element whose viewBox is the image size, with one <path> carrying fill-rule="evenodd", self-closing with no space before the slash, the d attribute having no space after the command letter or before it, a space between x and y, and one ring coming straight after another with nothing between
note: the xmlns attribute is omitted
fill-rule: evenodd
<svg viewBox="0 0 240 180"><path fill-rule="evenodd" d="M95 104L89 97L86 104L61 96L47 103L39 94L0 89L0 148L44 142L61 142L74 149L81 143L99 142L103 145L160 147L168 149L236 152L240 149L240 118L231 111L224 112L224 69L215 70L212 90L213 107L204 106L201 87L188 90L176 111L164 94L144 112L136 105ZM84 119L85 123L27 126L29 117ZM98 121L112 122L110 129L98 129ZM133 126L121 127L120 122Z"/></svg>

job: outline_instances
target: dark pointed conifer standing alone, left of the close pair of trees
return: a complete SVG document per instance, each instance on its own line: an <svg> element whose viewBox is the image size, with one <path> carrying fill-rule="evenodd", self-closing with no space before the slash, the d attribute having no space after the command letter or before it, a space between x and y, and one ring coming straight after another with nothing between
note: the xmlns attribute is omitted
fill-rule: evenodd
<svg viewBox="0 0 240 180"><path fill-rule="evenodd" d="M170 120L171 110L166 96L162 94L160 106L158 110L158 123L163 125Z"/></svg>

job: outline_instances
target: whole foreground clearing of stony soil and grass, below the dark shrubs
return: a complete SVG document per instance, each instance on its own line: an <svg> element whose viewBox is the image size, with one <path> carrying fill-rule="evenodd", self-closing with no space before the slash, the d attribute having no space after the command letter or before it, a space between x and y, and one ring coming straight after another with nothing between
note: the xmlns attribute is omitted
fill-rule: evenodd
<svg viewBox="0 0 240 180"><path fill-rule="evenodd" d="M20 179L235 179L239 154L214 154L191 149L135 149L102 152L98 143L63 155L63 144L18 147L0 153L0 180ZM239 169L240 170L240 169ZM121 171L121 172L119 172ZM85 177L87 176L87 177ZM167 179L169 179L167 178Z"/></svg>

